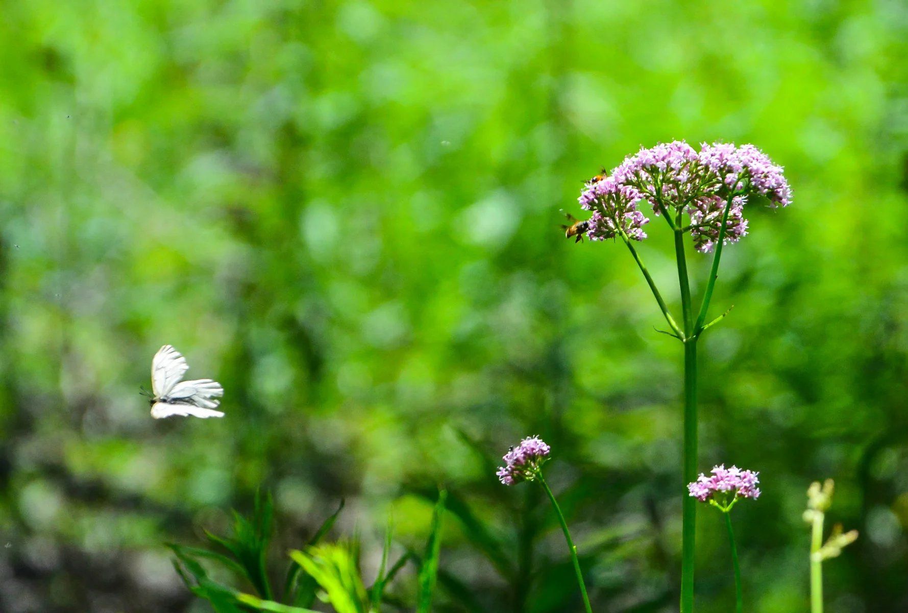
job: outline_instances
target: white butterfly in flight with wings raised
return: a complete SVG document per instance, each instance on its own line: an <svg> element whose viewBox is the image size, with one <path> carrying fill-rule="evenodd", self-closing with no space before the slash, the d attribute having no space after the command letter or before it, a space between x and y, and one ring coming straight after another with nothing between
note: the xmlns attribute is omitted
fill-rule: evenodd
<svg viewBox="0 0 908 613"><path fill-rule="evenodd" d="M211 379L181 381L189 364L180 351L164 345L152 360L152 417L160 420L171 415L186 417L223 417L217 408L224 395L221 383Z"/></svg>

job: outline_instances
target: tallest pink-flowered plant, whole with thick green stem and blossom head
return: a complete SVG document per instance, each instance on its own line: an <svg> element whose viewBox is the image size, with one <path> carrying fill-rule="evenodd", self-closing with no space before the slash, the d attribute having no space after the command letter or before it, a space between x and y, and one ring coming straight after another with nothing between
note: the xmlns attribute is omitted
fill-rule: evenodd
<svg viewBox="0 0 908 613"><path fill-rule="evenodd" d="M762 200L775 208L791 203L792 193L781 166L752 144L703 143L699 151L683 141L660 143L628 156L610 173L587 182L580 206L592 215L568 230L586 232L593 241L624 242L637 262L659 309L666 318L666 334L684 345L684 474L679 486L696 480L696 345L703 333L725 317L707 321L726 243L747 234L745 208ZM675 237L681 318L676 318L637 252L646 239L648 214L661 217ZM686 236L694 249L712 253L699 306L693 301L687 274ZM685 491L679 487L678 492ZM696 499L685 497L682 518L681 613L694 608L694 538Z"/></svg>

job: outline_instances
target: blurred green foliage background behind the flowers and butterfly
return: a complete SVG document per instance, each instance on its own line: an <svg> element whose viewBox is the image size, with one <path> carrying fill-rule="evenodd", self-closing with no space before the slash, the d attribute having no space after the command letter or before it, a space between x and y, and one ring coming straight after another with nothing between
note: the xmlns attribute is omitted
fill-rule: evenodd
<svg viewBox="0 0 908 613"><path fill-rule="evenodd" d="M680 346L558 209L685 138L755 143L795 189L748 209L701 343L701 468L763 482L747 608L805 610L804 492L833 477L861 538L827 610L908 610L903 2L2 6L0 609L207 610L162 543L259 485L277 559L346 498L369 577L389 510L419 546L445 484L487 529L449 514L437 610L577 611L546 501L494 476L539 434L595 608L677 610ZM676 305L663 226L641 253ZM224 420L149 417L164 343ZM698 528L698 610L726 612L722 519Z"/></svg>

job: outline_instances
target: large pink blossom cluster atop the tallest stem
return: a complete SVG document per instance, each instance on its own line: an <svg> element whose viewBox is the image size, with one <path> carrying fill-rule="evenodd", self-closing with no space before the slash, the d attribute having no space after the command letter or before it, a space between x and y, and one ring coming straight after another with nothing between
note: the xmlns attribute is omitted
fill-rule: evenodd
<svg viewBox="0 0 908 613"><path fill-rule="evenodd" d="M665 209L687 213L694 246L709 252L718 241L728 198L725 242L745 236L744 205L751 194L765 196L773 207L792 199L783 168L754 145L703 143L697 152L673 141L627 156L611 173L588 182L579 202L593 213L587 236L594 241L622 234L645 239L642 228L649 220L637 205L646 200L656 215L669 213Z"/></svg>

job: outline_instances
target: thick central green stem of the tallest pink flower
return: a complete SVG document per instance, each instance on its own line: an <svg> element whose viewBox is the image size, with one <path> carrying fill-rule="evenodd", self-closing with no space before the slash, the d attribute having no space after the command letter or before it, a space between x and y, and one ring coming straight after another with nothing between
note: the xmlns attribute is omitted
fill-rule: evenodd
<svg viewBox="0 0 908 613"><path fill-rule="evenodd" d="M680 215L678 215L680 217ZM677 223L681 225L680 220ZM684 312L684 450L682 457L683 496L681 506L681 613L694 610L694 565L696 539L696 499L687 496L687 483L696 480L696 334L687 280L687 261L684 252L684 232L675 232L675 255L681 307Z"/></svg>

